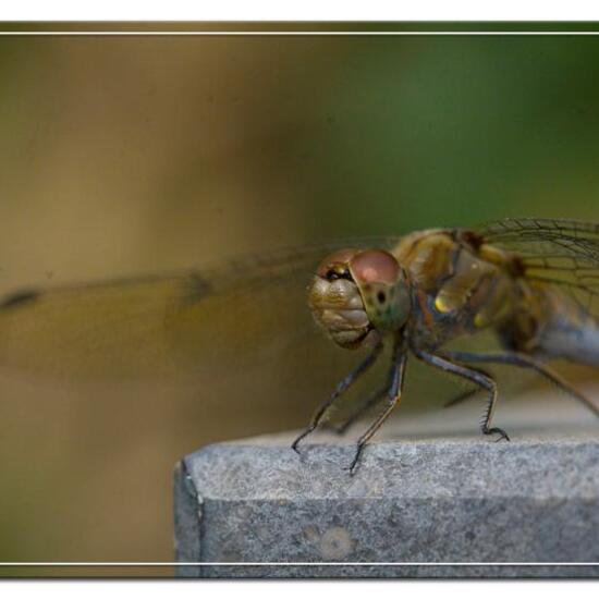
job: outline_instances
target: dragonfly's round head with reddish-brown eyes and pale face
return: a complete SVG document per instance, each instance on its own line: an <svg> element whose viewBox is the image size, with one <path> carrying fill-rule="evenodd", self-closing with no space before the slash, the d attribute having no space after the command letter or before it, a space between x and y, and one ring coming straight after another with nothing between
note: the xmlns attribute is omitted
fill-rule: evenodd
<svg viewBox="0 0 599 599"><path fill-rule="evenodd" d="M308 291L316 321L342 347L358 347L377 332L398 331L409 316L406 273L382 249L331 254L320 262Z"/></svg>

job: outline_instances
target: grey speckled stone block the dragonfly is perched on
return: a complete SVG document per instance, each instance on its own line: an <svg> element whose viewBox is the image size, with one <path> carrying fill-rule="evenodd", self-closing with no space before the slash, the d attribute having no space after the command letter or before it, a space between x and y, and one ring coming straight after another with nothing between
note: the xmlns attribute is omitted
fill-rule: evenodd
<svg viewBox="0 0 599 599"><path fill-rule="evenodd" d="M426 428L426 417L398 419L353 477L344 469L353 445L327 436L304 445L302 457L290 450L294 433L186 456L175 476L179 574L599 574L599 566L557 565L599 562L599 428L571 418L560 431L541 435L529 423L514 431L514 417L512 442L494 443L448 437L459 430L452 418L445 435L429 438L414 425ZM498 562L512 565L486 565ZM523 565L539 562L549 564Z"/></svg>

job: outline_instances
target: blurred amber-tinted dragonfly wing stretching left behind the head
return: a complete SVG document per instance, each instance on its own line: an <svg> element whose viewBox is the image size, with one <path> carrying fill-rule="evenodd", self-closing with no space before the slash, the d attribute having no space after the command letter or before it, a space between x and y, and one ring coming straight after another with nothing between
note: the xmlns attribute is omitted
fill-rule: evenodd
<svg viewBox="0 0 599 599"><path fill-rule="evenodd" d="M314 359L307 339L317 330L306 286L322 257L347 244L357 242L166 277L19 292L0 305L0 369L66 380L183 381L233 375L283 352Z"/></svg>

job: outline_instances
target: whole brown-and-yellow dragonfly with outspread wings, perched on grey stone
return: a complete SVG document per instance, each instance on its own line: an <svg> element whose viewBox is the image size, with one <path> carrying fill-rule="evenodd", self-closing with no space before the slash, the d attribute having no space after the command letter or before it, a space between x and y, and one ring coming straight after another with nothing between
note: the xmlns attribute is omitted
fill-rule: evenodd
<svg viewBox="0 0 599 599"><path fill-rule="evenodd" d="M340 427L380 407L357 440L351 474L400 403L408 358L474 383L450 403L484 391L480 431L497 440L510 438L492 424L498 383L486 364L536 371L599 416L548 365L599 365L599 223L503 219L282 250L223 268L23 290L0 303L0 368L68 379L193 378L248 349L278 351L283 340L293 350L292 326L365 352L294 440L297 453L354 383L390 356L383 384ZM494 333L502 350L449 349L481 331ZM223 343L233 333L235 342Z"/></svg>

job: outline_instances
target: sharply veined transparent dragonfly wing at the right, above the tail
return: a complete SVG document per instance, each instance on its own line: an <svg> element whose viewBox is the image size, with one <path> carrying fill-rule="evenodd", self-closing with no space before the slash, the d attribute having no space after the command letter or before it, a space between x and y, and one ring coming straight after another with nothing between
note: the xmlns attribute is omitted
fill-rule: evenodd
<svg viewBox="0 0 599 599"><path fill-rule="evenodd" d="M555 284L599 316L599 223L552 219L503 219L484 224L486 243L517 254L525 276Z"/></svg>

